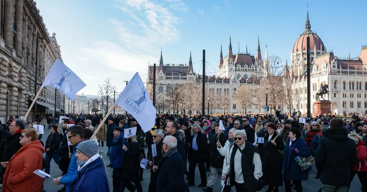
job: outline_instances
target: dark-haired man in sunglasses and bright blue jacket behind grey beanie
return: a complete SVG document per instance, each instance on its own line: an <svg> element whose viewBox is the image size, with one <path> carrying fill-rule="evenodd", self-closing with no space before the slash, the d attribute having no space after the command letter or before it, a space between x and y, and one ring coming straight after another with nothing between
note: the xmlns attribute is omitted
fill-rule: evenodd
<svg viewBox="0 0 367 192"><path fill-rule="evenodd" d="M54 179L54 184L55 185L60 185L60 184L65 185L66 192L69 192L69 187L75 181L77 177L77 173L78 173L78 170L77 170L78 165L76 163L76 157L75 157L76 147L78 146L80 142L84 140L88 140L88 139L84 139L84 129L80 125L71 126L66 129L66 132L68 134L68 139L70 141L70 144L71 146L73 146L74 153L73 154L69 153L69 156L71 157L71 159L70 159L68 172L64 176Z"/></svg>

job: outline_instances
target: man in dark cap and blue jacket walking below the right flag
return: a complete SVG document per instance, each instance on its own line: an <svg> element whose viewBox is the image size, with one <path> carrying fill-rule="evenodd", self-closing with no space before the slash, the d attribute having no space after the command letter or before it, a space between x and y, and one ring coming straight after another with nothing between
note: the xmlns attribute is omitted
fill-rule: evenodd
<svg viewBox="0 0 367 192"><path fill-rule="evenodd" d="M122 120L121 120L122 121ZM113 192L117 192L121 185L122 162L124 159L124 152L122 146L127 144L124 142L124 134L121 127L113 128L113 147L111 149L111 168L113 168Z"/></svg>

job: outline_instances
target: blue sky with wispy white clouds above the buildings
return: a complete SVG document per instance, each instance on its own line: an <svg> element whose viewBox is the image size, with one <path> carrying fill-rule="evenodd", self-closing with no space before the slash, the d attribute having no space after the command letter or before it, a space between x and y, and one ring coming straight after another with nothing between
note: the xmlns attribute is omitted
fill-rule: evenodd
<svg viewBox="0 0 367 192"><path fill-rule="evenodd" d="M334 55L359 56L367 44L367 1L230 1L230 0L37 0L50 34L56 33L62 59L86 84L80 91L97 94L110 77L119 90L139 72L146 81L148 62L193 63L206 49L207 72L215 74L221 43L228 53L256 53L260 38L270 55L285 64L304 31L307 3L311 30ZM193 67L199 72L201 63ZM214 69L213 69L214 68ZM202 67L200 68L202 70ZM121 89L120 89L121 88Z"/></svg>

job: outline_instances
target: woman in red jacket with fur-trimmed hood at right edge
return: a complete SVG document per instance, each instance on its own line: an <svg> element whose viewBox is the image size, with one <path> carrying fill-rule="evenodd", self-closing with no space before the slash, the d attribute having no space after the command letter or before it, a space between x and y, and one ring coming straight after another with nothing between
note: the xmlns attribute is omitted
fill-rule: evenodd
<svg viewBox="0 0 367 192"><path fill-rule="evenodd" d="M362 184L362 191L367 191L367 148L366 143L364 143L362 137L355 131L348 134L350 139L356 142L357 149L357 164L350 170L350 182L352 182L354 176L357 174L359 181ZM350 184L348 185L349 190Z"/></svg>

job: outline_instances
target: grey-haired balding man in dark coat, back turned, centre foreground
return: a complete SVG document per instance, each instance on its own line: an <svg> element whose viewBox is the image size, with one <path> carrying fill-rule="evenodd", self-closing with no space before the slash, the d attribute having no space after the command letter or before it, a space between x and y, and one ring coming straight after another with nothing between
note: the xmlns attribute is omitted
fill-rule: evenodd
<svg viewBox="0 0 367 192"><path fill-rule="evenodd" d="M158 165L153 166L153 172L158 172L157 191L185 192L183 159L177 151L177 139L166 136L162 142L163 158Z"/></svg>

